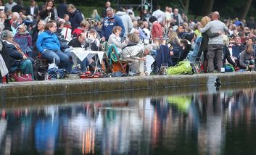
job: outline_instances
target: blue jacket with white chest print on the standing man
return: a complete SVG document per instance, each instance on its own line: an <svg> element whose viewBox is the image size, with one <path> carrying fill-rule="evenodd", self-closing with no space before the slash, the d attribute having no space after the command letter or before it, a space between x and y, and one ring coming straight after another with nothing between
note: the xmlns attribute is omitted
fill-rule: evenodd
<svg viewBox="0 0 256 155"><path fill-rule="evenodd" d="M114 15L114 17L112 18L105 17L102 22L102 37L105 37L106 41L109 40L114 26L120 26L122 28L122 33L120 34L120 37L123 37L123 35L125 34L125 27L123 26L123 21L120 17L118 17L117 15Z"/></svg>

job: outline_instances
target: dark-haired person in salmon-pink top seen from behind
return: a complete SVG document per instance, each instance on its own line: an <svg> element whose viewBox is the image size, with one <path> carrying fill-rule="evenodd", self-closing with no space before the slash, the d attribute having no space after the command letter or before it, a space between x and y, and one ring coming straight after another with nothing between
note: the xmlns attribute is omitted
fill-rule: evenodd
<svg viewBox="0 0 256 155"><path fill-rule="evenodd" d="M155 38L162 38L162 27L159 22L157 22L157 17L150 17L149 22L152 23L151 35L152 40Z"/></svg>

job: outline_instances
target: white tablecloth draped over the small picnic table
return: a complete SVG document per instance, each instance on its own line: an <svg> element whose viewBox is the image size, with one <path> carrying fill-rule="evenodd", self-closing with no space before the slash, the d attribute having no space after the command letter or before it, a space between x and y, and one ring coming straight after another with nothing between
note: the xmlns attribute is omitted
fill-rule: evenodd
<svg viewBox="0 0 256 155"><path fill-rule="evenodd" d="M74 47L73 50L71 50L70 52L75 54L75 56L77 56L80 61L83 61L83 59L85 59L88 54L97 54L100 63L102 63L104 55L104 51L86 51L85 49L80 47Z"/></svg>

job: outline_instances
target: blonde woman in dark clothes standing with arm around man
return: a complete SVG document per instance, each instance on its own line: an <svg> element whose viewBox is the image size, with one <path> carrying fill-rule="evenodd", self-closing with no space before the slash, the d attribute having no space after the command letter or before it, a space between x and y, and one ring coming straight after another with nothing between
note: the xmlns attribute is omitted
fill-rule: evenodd
<svg viewBox="0 0 256 155"><path fill-rule="evenodd" d="M208 16L202 17L201 28L204 28L208 22L210 22L210 17L208 17ZM208 66L207 65L207 63L208 63L208 61L207 61L208 41L209 41L209 38L215 37L217 35L219 35L219 33L211 33L210 30L207 30L205 33L202 33L202 42L201 42L201 46L200 46L197 57L200 57L202 55L202 52L204 53L203 66L204 66L205 73L207 72L207 66Z"/></svg>

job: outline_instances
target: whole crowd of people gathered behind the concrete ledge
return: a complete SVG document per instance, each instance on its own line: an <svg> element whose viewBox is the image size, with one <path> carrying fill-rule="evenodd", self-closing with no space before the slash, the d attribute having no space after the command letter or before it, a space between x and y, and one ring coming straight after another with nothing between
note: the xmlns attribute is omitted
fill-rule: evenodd
<svg viewBox="0 0 256 155"><path fill-rule="evenodd" d="M253 17L248 21L236 18L221 22L220 14L212 12L202 20L189 20L178 8L165 7L163 12L160 6L154 12L141 9L136 16L130 7L113 9L110 1L101 15L94 9L90 18L65 0L60 4L47 0L43 6L30 0L28 7L21 0L9 0L6 4L0 0L0 6L2 76L19 70L36 80L33 64L38 57L56 64L67 74L74 69L86 72L97 59L87 57L74 63L72 48L90 46L91 50L100 51L103 42L117 48L120 59L129 62L135 75L144 72L139 65L146 62L147 55L155 59L152 66L158 72L159 64L174 66L186 59L189 51L197 54L203 72L220 72L226 63L237 70L255 67ZM200 46L195 50L199 38ZM79 64L79 68L74 64Z"/></svg>

